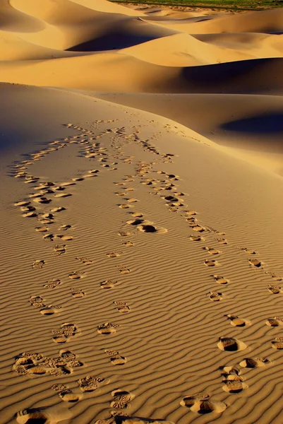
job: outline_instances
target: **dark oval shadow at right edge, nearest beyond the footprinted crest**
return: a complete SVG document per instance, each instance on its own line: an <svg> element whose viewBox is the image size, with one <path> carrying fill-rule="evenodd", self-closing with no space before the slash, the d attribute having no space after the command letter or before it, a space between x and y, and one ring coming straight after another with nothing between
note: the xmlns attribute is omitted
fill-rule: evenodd
<svg viewBox="0 0 283 424"><path fill-rule="evenodd" d="M283 133L283 112L260 114L256 117L238 119L226 122L220 127L227 131L236 131L251 134Z"/></svg>

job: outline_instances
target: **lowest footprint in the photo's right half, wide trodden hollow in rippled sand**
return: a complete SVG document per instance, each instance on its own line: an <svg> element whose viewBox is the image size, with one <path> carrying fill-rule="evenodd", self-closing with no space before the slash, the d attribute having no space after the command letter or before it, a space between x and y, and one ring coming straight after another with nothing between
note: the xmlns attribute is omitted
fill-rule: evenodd
<svg viewBox="0 0 283 424"><path fill-rule="evenodd" d="M180 402L181 406L190 408L191 411L201 415L215 412L222 413L227 405L221 401L211 401L208 394L194 394L192 396L185 396Z"/></svg>

